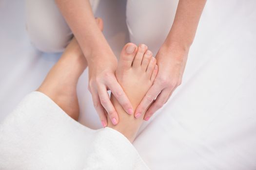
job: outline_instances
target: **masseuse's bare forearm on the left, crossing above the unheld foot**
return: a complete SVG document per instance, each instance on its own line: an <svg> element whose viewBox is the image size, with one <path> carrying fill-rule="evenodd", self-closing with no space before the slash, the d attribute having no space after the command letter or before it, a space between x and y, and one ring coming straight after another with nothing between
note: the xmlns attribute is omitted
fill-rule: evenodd
<svg viewBox="0 0 256 170"><path fill-rule="evenodd" d="M61 14L79 42L84 56L88 60L95 51L110 50L110 47L98 28L89 0L55 0ZM102 57L102 56L101 56Z"/></svg>

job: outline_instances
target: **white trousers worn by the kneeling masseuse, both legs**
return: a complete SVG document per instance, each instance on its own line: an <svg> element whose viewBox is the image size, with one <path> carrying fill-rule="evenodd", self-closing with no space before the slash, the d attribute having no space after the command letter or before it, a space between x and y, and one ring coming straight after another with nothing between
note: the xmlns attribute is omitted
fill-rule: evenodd
<svg viewBox="0 0 256 170"><path fill-rule="evenodd" d="M90 0L94 12L98 1ZM156 54L173 24L177 3L178 0L127 0L130 42L144 43ZM26 27L31 42L44 52L63 51L73 36L54 0L26 0Z"/></svg>

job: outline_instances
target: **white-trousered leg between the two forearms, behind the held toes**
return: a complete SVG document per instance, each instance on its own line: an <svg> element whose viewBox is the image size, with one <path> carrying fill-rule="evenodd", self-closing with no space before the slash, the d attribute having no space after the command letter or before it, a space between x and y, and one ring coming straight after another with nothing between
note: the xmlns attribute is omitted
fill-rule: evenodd
<svg viewBox="0 0 256 170"><path fill-rule="evenodd" d="M127 0L126 22L132 43L147 44L156 55L172 27L178 0Z"/></svg>

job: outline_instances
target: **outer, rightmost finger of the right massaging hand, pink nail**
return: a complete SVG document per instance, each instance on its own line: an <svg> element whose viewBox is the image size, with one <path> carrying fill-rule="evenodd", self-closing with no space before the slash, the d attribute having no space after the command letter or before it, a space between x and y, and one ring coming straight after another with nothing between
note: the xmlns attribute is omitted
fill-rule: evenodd
<svg viewBox="0 0 256 170"><path fill-rule="evenodd" d="M144 116L144 120L148 121L151 118L151 116L164 105L169 95L169 89L165 88L164 90L162 90L161 93L158 95L156 101L148 108Z"/></svg>

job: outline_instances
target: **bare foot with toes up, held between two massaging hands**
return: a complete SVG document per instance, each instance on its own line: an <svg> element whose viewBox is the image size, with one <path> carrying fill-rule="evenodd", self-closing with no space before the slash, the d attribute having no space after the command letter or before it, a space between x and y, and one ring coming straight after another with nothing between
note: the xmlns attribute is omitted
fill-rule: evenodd
<svg viewBox="0 0 256 170"><path fill-rule="evenodd" d="M147 49L144 44L137 47L128 43L124 46L118 62L116 77L133 108L138 106L148 89L153 85L158 72L156 59L152 56L152 52ZM133 142L145 113L142 113L143 115L139 119L135 119L134 115L125 113L113 95L111 95L111 100L118 111L119 123L114 126L108 118L108 126L118 130Z"/></svg>

